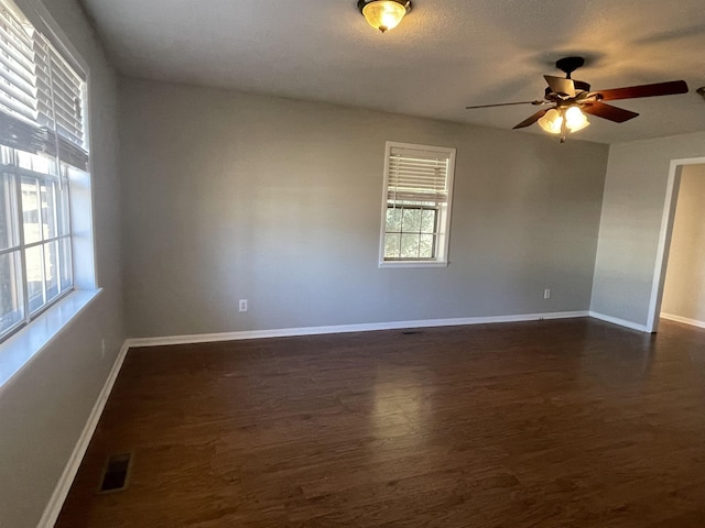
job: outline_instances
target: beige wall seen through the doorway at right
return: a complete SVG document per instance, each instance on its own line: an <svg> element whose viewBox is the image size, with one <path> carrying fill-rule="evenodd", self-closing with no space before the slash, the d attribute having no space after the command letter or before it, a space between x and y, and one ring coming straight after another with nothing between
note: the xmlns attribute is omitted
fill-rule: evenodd
<svg viewBox="0 0 705 528"><path fill-rule="evenodd" d="M681 174L661 311L705 324L705 165Z"/></svg>

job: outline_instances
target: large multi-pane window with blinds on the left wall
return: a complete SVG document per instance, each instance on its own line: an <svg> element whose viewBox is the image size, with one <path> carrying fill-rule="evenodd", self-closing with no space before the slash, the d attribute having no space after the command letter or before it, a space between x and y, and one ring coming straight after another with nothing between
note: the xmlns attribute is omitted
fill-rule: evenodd
<svg viewBox="0 0 705 528"><path fill-rule="evenodd" d="M74 287L70 182L88 176L84 75L0 0L0 340Z"/></svg>

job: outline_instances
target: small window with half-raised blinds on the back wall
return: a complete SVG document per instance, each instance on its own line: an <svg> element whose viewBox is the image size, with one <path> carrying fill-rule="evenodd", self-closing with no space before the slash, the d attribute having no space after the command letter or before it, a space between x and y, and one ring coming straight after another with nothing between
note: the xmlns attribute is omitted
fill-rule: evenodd
<svg viewBox="0 0 705 528"><path fill-rule="evenodd" d="M446 266L455 148L387 142L380 267Z"/></svg>

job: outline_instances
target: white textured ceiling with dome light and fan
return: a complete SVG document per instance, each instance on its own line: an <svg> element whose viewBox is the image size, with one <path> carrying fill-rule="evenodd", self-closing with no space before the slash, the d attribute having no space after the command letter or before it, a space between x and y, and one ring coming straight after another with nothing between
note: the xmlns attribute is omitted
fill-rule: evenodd
<svg viewBox="0 0 705 528"><path fill-rule="evenodd" d="M82 2L128 76L511 129L535 108L464 108L541 98L542 75L577 54L593 89L685 79L691 92L615 101L641 116L590 118L576 139L705 130L703 0L414 0L386 34L355 0Z"/></svg>

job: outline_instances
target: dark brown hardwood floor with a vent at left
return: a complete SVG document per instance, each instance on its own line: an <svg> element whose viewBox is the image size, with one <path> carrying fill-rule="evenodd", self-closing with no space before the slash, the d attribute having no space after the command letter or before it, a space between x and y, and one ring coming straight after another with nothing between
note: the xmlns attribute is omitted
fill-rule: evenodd
<svg viewBox="0 0 705 528"><path fill-rule="evenodd" d="M129 487L97 494L109 454ZM133 349L58 527L705 526L705 331Z"/></svg>

